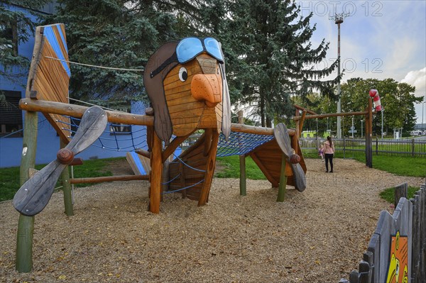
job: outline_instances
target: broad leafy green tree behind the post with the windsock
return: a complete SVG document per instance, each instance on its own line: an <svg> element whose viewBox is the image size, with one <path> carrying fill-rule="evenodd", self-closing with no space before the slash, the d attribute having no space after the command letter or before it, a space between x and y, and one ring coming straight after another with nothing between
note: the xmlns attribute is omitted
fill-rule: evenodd
<svg viewBox="0 0 426 283"><path fill-rule="evenodd" d="M364 111L368 106L368 91L377 89L384 109L384 131L403 128L403 132L413 130L415 125L414 104L422 100L414 96L415 87L396 82L395 79L349 79L342 84L342 111ZM354 116L356 130L361 131L364 116ZM346 118L347 121L347 118ZM343 131L347 133L351 122L344 123ZM373 133L381 135L381 115L373 116Z"/></svg>

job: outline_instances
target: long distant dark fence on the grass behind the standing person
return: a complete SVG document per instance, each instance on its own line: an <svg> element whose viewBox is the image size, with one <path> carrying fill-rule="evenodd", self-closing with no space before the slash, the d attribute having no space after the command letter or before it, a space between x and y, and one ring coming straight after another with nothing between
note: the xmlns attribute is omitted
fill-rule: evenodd
<svg viewBox="0 0 426 283"><path fill-rule="evenodd" d="M315 151L324 143L324 138L300 138L300 147L302 150ZM366 150L365 139L333 139L336 152L343 152L344 155L364 154ZM373 154L375 155L393 155L408 157L426 157L426 138L425 139L398 139L373 140Z"/></svg>

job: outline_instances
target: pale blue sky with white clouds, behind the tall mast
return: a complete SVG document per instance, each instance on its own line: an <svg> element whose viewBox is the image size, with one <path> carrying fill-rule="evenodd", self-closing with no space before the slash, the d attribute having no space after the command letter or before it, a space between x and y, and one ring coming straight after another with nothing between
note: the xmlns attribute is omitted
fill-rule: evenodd
<svg viewBox="0 0 426 283"><path fill-rule="evenodd" d="M353 77L392 78L415 86L415 96L425 96L425 0L296 0L296 3L302 16L313 13L311 24L315 23L317 30L312 36L312 48L323 39L330 44L327 60L319 67L331 65L337 58L337 24L329 18L335 13L346 13L340 27L343 82ZM382 105L386 109L386 101ZM415 109L417 123L422 123L422 115L426 123L426 103L415 105Z"/></svg>

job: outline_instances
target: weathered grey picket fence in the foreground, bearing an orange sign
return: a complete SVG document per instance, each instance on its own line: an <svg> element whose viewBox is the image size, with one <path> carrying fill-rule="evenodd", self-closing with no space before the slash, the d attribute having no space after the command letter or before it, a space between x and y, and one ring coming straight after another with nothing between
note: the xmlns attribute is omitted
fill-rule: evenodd
<svg viewBox="0 0 426 283"><path fill-rule="evenodd" d="M395 200L407 195L407 183L395 187ZM407 282L426 278L426 183L413 199L401 197L393 215L382 211L359 270L339 283Z"/></svg>

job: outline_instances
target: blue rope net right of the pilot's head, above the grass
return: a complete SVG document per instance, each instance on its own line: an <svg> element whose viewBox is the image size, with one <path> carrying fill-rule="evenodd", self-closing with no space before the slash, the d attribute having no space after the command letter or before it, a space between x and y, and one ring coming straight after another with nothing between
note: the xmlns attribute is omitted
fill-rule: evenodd
<svg viewBox="0 0 426 283"><path fill-rule="evenodd" d="M217 156L244 155L251 152L263 143L273 140L273 135L256 135L253 133L236 133L231 132L229 141L225 140L225 136L219 135L219 143L217 145Z"/></svg>

